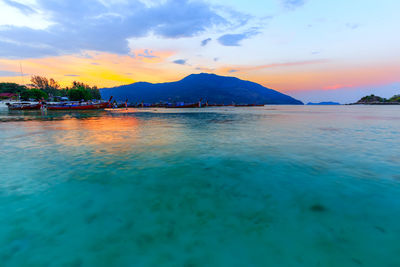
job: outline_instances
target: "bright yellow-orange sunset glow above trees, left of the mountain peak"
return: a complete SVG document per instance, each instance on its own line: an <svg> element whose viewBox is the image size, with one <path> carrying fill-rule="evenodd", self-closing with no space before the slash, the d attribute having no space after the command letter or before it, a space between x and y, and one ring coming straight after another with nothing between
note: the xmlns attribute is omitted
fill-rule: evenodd
<svg viewBox="0 0 400 267"><path fill-rule="evenodd" d="M0 69L19 73L21 63L23 73L26 75L22 78L19 75L2 77L1 80L19 84L23 81L29 84L31 75L40 75L54 78L62 87L69 86L73 81L80 81L101 88L137 81L162 82L163 77L172 74L163 67L163 61L172 56L173 52L152 52L151 56L147 57L142 50L134 53L136 56L87 52L84 56L66 55L24 60L0 59ZM160 76L155 76L154 72Z"/></svg>

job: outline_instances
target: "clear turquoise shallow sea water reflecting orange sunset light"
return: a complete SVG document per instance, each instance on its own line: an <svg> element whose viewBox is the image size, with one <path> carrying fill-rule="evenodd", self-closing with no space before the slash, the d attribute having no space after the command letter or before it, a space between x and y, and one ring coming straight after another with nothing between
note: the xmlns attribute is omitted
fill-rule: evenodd
<svg viewBox="0 0 400 267"><path fill-rule="evenodd" d="M0 110L1 266L400 266L400 107Z"/></svg>

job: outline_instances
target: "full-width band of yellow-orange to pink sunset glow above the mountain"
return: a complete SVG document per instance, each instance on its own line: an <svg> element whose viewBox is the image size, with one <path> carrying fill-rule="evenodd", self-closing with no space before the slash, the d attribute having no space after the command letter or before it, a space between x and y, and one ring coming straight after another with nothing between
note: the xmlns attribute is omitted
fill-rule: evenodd
<svg viewBox="0 0 400 267"><path fill-rule="evenodd" d="M65 55L38 59L0 59L0 70L23 72L54 78L69 86L74 80L90 85L114 87L137 81L171 82L190 73L213 70L215 74L235 76L260 83L281 92L306 90L336 90L368 85L383 85L400 81L399 64L377 66L340 64L328 60L275 63L259 66L224 66L199 68L172 64L173 51L132 51L135 56L88 51L84 55ZM29 76L2 77L3 82L29 83Z"/></svg>

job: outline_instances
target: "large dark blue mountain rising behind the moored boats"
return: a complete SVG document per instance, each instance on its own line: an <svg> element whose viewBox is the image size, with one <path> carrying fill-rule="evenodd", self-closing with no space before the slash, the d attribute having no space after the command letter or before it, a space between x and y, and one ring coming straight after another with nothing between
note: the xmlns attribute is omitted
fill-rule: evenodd
<svg viewBox="0 0 400 267"><path fill-rule="evenodd" d="M100 89L103 99L114 96L117 101L129 102L185 102L195 103L200 99L210 104L290 104L303 105L297 99L266 88L260 84L234 77L215 74L191 74L169 83L137 82L113 88Z"/></svg>

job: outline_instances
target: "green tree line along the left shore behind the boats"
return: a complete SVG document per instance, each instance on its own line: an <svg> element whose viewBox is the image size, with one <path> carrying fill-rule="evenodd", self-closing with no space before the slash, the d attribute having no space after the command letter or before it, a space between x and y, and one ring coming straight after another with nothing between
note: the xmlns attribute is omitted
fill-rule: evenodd
<svg viewBox="0 0 400 267"><path fill-rule="evenodd" d="M74 81L71 86L62 88L54 79L47 79L42 76L32 76L30 84L20 85L16 83L0 83L1 99L20 99L28 100L51 100L60 101L68 99L70 101L101 99L101 94L97 86L90 86L82 82Z"/></svg>

